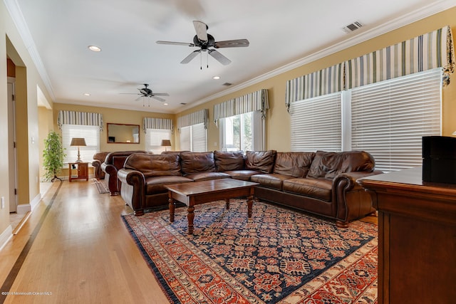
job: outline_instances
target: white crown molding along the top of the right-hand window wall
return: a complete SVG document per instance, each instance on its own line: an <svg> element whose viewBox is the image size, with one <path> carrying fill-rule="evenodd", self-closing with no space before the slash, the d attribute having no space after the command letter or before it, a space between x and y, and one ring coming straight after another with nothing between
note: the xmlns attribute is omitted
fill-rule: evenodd
<svg viewBox="0 0 456 304"><path fill-rule="evenodd" d="M210 100L214 100L215 98L223 97L224 95L228 95L230 93L237 92L238 90L242 90L251 85L260 83L261 81L267 80L269 78L273 78L276 75L280 75L282 73L288 72L289 70L293 70L294 68L299 68L302 65L306 65L306 64L314 62L318 59L324 58L326 56L330 56L333 53L337 53L338 51L343 51L344 49L349 48L351 46L355 46L358 43L368 41L371 38L375 38L377 36L383 35L384 33L394 31L395 29L401 28L401 27L406 26L415 21L420 21L421 19L425 19L429 16L440 13L441 11L451 9L453 6L456 6L455 0L442 0L442 1L438 2L437 4L429 4L425 7L423 7L422 9L418 9L416 11L411 11L410 13L405 14L404 16L400 16L396 19L393 19L386 24L382 24L381 26L371 28L370 30L360 33L359 35L347 38L346 40L341 41L339 43L335 43L332 46L328 46L327 48L323 48L321 51L312 53L309 56L305 56L297 61L293 61L291 63L283 65L280 68L271 70L267 73L264 73L263 75L259 75L255 78L252 78L251 80L247 80L244 83L235 85L232 88L223 90L222 92L216 93L214 95L210 95L207 98L204 98L202 100L198 100L197 102L191 103L187 107L180 108L179 111L175 112L174 114L178 114L185 110L189 110L191 108L196 107L197 105L202 105L203 103L207 103Z"/></svg>

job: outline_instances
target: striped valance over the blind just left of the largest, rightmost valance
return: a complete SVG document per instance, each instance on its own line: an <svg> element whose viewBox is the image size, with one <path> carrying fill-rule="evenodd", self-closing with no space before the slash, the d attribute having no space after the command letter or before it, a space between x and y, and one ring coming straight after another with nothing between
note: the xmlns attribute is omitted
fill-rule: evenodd
<svg viewBox="0 0 456 304"><path fill-rule="evenodd" d="M296 100L314 98L343 90L343 63L286 82L286 108Z"/></svg>

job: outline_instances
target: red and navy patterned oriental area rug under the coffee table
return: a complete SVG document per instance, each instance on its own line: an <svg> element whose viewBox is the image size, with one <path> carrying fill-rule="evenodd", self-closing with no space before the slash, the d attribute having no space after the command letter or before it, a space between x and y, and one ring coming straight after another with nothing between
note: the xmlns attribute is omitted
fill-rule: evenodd
<svg viewBox="0 0 456 304"><path fill-rule="evenodd" d="M377 303L377 226L231 200L123 216L171 303Z"/></svg>

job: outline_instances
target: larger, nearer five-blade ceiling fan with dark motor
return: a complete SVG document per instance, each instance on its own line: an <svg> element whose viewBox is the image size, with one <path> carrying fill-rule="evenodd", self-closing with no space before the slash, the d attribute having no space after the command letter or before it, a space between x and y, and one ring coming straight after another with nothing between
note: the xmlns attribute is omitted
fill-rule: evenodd
<svg viewBox="0 0 456 304"><path fill-rule="evenodd" d="M195 58L198 53L206 52L215 58L222 65L228 65L231 61L219 53L215 48L239 48L249 46L249 41L247 39L236 39L236 40L227 40L227 41L215 41L215 38L212 35L207 33L206 23L201 21L193 21L193 26L195 26L195 31L197 34L193 37L193 43L185 42L173 42L173 41L156 41L158 44L172 44L176 46L196 46L199 48L196 51L190 53L189 56L185 57L180 63L189 63Z"/></svg>

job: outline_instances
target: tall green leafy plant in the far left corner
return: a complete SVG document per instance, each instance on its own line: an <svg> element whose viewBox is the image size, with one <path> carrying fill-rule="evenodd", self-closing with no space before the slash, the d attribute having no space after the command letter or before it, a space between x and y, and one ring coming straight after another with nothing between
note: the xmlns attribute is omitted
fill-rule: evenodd
<svg viewBox="0 0 456 304"><path fill-rule="evenodd" d="M60 179L56 172L63 168L63 157L66 156L63 150L61 136L54 131L49 132L48 137L44 140L43 150L43 167L46 170L44 178L46 180L51 179L53 182L54 179Z"/></svg>

